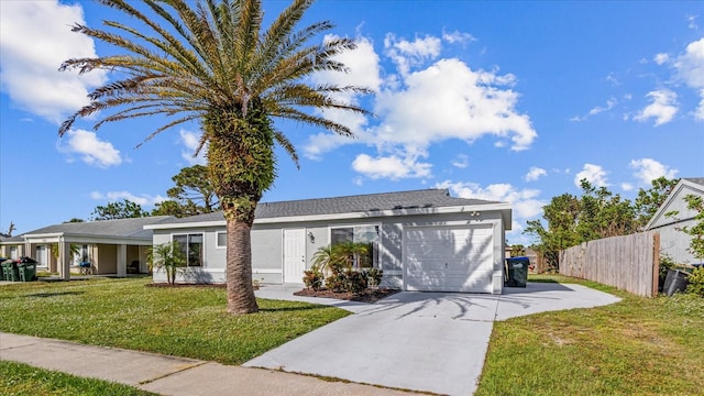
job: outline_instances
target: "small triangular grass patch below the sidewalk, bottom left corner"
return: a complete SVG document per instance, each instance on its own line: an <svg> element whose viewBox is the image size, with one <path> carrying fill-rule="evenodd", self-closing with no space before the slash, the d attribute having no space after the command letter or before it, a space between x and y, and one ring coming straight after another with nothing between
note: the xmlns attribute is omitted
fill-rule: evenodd
<svg viewBox="0 0 704 396"><path fill-rule="evenodd" d="M146 396L154 395L107 381L81 378L22 363L0 361L0 389L13 396Z"/></svg>

